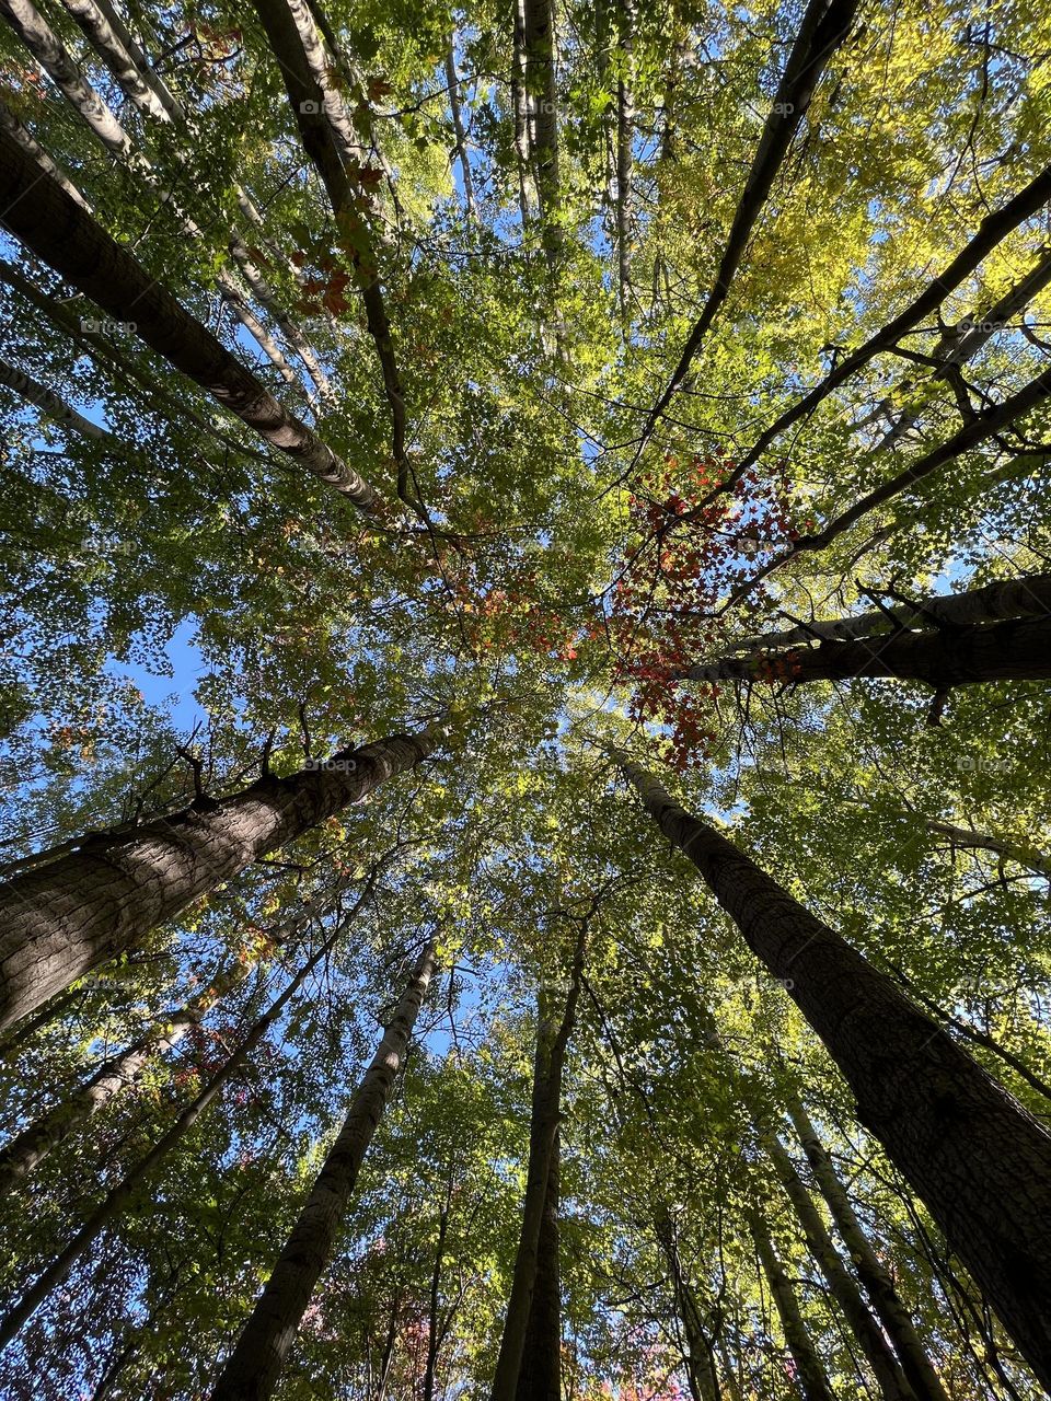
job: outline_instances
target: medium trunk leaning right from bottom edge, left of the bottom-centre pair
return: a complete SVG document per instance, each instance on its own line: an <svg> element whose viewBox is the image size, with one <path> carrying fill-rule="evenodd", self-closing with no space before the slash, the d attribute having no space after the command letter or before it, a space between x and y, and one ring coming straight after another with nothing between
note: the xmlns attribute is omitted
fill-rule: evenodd
<svg viewBox="0 0 1051 1401"><path fill-rule="evenodd" d="M273 1274L216 1381L212 1401L263 1401L273 1393L311 1295L332 1258L350 1192L405 1061L433 974L434 946L427 944Z"/></svg>

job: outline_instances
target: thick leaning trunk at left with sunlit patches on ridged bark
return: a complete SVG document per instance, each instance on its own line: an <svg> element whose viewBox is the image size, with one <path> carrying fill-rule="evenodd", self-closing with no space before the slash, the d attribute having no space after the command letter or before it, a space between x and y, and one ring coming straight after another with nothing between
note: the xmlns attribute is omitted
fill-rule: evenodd
<svg viewBox="0 0 1051 1401"><path fill-rule="evenodd" d="M0 885L0 1026L27 1016L91 968L252 862L412 768L434 736L392 736L345 750L321 768L266 775L220 801L195 800L132 832L87 838L80 850Z"/></svg>

